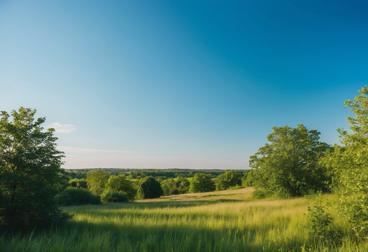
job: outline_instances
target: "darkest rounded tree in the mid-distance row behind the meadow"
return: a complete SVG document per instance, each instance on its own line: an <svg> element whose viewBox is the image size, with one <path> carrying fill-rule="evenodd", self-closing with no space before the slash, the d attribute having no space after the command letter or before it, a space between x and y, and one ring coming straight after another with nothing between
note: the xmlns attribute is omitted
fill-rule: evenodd
<svg viewBox="0 0 368 252"><path fill-rule="evenodd" d="M152 176L146 176L139 180L137 197L139 199L154 199L163 195L161 185Z"/></svg>

